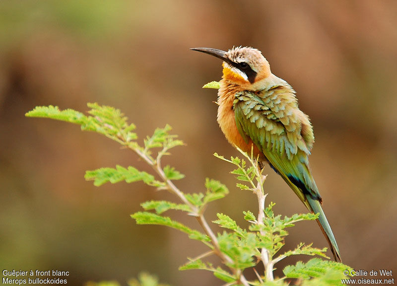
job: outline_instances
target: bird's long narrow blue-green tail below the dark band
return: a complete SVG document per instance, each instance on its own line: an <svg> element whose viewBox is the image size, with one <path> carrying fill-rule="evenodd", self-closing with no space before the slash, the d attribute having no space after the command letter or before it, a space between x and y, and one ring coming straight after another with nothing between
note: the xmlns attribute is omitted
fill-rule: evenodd
<svg viewBox="0 0 397 286"><path fill-rule="evenodd" d="M313 211L313 213L317 214L319 213L319 218L317 219L317 222L320 225L321 230L324 233L324 236L326 237L328 244L330 245L331 252L333 255L333 258L335 261L342 261L340 258L340 252L338 245L336 244L335 237L333 236L331 226L328 223L327 217L323 212L323 209L321 208L321 204L319 201L312 199L310 195L305 196L307 199L307 202L309 203L310 209Z"/></svg>

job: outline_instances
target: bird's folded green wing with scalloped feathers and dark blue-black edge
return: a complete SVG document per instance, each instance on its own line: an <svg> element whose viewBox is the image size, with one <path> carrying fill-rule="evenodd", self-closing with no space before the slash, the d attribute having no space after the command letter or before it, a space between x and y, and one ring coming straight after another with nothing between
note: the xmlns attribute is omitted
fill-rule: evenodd
<svg viewBox="0 0 397 286"><path fill-rule="evenodd" d="M314 137L291 90L276 86L258 94L242 91L236 93L233 108L241 136L251 138L306 205L305 195L321 201L308 161Z"/></svg>

